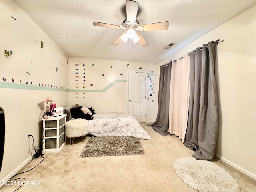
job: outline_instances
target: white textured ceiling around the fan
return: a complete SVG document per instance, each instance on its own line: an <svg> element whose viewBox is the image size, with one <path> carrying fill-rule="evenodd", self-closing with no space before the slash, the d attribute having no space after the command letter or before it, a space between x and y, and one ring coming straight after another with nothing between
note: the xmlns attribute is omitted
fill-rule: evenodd
<svg viewBox="0 0 256 192"><path fill-rule="evenodd" d="M124 30L125 0L14 0L68 56L155 63L256 5L256 0L138 0L140 24L168 21L165 31L145 31L149 43L111 43ZM245 21L246 22L246 21ZM221 37L220 37L221 38ZM176 43L169 50L164 47Z"/></svg>

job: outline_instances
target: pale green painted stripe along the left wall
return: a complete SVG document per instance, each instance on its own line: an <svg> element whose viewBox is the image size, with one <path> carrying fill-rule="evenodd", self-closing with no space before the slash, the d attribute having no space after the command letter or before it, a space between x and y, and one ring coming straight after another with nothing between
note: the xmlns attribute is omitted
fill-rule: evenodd
<svg viewBox="0 0 256 192"><path fill-rule="evenodd" d="M46 87L46 86L36 86L27 84L18 84L10 82L0 82L0 88L6 89L26 89L26 90L44 90L44 91L67 91L68 89L56 88L56 87Z"/></svg>

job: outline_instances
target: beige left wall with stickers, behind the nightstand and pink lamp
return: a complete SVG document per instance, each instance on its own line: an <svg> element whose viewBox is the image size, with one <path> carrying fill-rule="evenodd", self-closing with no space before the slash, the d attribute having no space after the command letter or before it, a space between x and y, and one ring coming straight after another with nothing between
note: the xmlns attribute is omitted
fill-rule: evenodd
<svg viewBox="0 0 256 192"><path fill-rule="evenodd" d="M68 57L12 0L0 1L0 23L0 106L6 123L0 180L9 180L34 153L26 134L34 136L35 146L42 140L41 100L51 95L57 106L68 105ZM4 50L12 50L10 58Z"/></svg>

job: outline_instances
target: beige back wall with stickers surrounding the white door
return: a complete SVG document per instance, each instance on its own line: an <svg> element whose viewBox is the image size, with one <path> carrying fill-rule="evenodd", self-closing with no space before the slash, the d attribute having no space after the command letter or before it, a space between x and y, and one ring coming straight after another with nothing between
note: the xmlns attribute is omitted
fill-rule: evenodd
<svg viewBox="0 0 256 192"><path fill-rule="evenodd" d="M69 105L92 107L95 112L128 112L128 71L147 73L147 122L154 122L158 71L152 63L70 57Z"/></svg>

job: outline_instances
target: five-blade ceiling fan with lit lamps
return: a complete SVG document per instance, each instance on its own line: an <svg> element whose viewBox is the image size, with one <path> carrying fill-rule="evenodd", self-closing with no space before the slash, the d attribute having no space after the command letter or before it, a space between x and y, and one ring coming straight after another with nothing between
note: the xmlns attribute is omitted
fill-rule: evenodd
<svg viewBox="0 0 256 192"><path fill-rule="evenodd" d="M137 12L138 12L138 2L133 0L126 0L126 16L127 18L124 19L122 26L106 24L101 22L93 22L94 26L100 27L108 27L108 28L116 28L116 29L125 29L126 33L120 35L111 45L118 45L122 40L126 43L127 40L133 40L133 43L138 42L142 47L148 45L148 42L135 30L139 31L156 31L156 30L167 30L169 27L169 22L158 22L158 23L151 23L140 25L139 21L136 19Z"/></svg>

